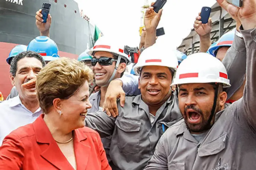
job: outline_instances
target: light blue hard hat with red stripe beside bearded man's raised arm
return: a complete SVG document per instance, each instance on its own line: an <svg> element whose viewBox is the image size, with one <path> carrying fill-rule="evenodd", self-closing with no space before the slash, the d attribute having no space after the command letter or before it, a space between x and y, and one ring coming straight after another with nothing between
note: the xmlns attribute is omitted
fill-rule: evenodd
<svg viewBox="0 0 256 170"><path fill-rule="evenodd" d="M210 46L208 49L209 53L216 57L216 52L220 47L231 47L234 40L235 30L236 29L233 29L232 31L223 34L215 45L213 44Z"/></svg>

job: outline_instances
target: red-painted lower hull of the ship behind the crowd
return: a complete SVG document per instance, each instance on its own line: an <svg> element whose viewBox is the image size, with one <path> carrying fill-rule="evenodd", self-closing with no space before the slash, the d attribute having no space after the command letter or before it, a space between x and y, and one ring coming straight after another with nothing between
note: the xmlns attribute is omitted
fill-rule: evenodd
<svg viewBox="0 0 256 170"><path fill-rule="evenodd" d="M10 66L6 62L6 58L16 45L18 44L0 42L0 91L2 92L4 99L6 99L12 89L12 84L10 81ZM76 54L63 51L59 51L59 55L74 59L77 59L78 57Z"/></svg>

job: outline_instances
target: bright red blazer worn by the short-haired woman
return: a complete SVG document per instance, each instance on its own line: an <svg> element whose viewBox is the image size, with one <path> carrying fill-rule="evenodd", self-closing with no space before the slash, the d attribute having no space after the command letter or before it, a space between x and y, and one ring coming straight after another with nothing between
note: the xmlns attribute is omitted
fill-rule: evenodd
<svg viewBox="0 0 256 170"><path fill-rule="evenodd" d="M43 120L22 126L3 140L0 170L72 170ZM87 127L74 130L77 170L111 170L99 134Z"/></svg>

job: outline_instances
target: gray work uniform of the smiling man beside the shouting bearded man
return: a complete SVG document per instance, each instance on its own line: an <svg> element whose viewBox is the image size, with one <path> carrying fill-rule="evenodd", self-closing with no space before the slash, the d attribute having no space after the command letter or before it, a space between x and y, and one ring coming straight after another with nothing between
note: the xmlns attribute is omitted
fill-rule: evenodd
<svg viewBox="0 0 256 170"><path fill-rule="evenodd" d="M104 112L88 113L85 124L101 137L112 135L110 157L117 169L141 170L153 155L163 130L180 120L177 102L173 94L158 109L151 123L149 108L141 95L126 97L124 107L117 103L118 117L109 117Z"/></svg>

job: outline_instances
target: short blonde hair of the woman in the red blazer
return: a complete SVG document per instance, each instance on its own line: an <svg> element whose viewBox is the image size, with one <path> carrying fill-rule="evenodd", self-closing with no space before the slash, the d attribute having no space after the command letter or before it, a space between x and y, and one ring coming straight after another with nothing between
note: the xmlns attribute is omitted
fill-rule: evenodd
<svg viewBox="0 0 256 170"><path fill-rule="evenodd" d="M53 100L68 99L86 82L93 80L92 70L84 63L61 57L49 62L38 74L36 81L40 107L47 113Z"/></svg>

